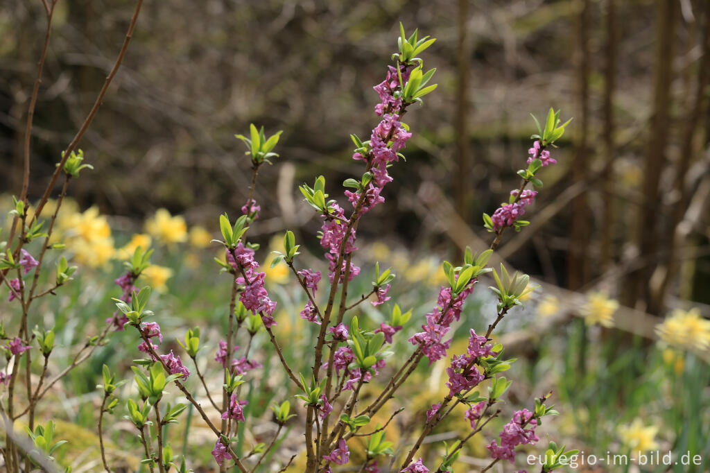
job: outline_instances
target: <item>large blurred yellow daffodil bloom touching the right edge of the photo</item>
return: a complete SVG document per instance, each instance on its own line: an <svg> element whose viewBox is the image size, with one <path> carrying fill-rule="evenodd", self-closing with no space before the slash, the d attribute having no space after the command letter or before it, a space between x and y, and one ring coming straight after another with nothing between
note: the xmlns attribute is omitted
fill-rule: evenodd
<svg viewBox="0 0 710 473"><path fill-rule="evenodd" d="M710 348L710 320L698 308L676 309L656 326L658 338L672 347L703 351Z"/></svg>

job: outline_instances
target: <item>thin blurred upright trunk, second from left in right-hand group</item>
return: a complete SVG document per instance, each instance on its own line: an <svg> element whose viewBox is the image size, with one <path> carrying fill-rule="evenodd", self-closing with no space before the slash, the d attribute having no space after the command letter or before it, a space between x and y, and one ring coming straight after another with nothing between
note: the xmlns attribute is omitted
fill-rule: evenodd
<svg viewBox="0 0 710 473"><path fill-rule="evenodd" d="M603 214L601 222L601 269L608 269L614 258L611 240L613 237L613 162L616 155L614 146L614 111L613 95L616 87L616 43L618 42L618 26L616 20L616 0L606 0L606 65L604 67L604 99L603 99L603 143L604 170Z"/></svg>

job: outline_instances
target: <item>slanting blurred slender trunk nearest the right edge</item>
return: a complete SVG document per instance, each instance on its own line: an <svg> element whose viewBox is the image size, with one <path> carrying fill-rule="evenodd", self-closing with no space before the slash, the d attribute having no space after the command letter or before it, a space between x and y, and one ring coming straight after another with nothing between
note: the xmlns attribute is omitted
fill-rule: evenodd
<svg viewBox="0 0 710 473"><path fill-rule="evenodd" d="M673 183L673 195L677 196L677 200L673 203L670 213L671 240L668 244L665 264L657 268L658 277L651 278L652 282L660 281L659 285L651 287L652 307L659 310L662 310L672 278L677 274L680 246L685 243L680 223L689 205L689 188L686 184L686 177L691 158L697 153L697 148L694 146L696 131L706 104L706 88L710 76L710 33L708 31L710 28L710 3L707 1L701 3L703 7L697 23L699 23L699 31L701 31L702 55L697 64L697 82L694 84L694 92L689 94L692 102L685 120L680 158Z"/></svg>

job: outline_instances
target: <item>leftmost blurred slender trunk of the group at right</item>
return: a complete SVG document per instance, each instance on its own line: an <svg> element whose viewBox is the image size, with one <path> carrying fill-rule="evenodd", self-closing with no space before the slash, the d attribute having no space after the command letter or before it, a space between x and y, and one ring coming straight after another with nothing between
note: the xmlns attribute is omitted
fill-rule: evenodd
<svg viewBox="0 0 710 473"><path fill-rule="evenodd" d="M579 13L579 51L577 67L579 81L579 141L577 158L574 160L572 180L584 180L589 168L589 9L590 1L584 0ZM587 254L589 246L589 212L586 192L572 200L572 220L567 259L567 286L579 289L587 278Z"/></svg>

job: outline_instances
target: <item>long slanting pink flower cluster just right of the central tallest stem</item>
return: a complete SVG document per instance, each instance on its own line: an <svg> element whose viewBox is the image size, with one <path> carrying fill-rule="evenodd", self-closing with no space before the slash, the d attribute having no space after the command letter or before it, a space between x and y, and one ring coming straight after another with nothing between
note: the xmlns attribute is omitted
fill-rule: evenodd
<svg viewBox="0 0 710 473"><path fill-rule="evenodd" d="M451 340L442 342L452 322L459 320L461 310L464 307L464 301L471 295L474 290L473 279L464 290L455 298L451 297L451 288L442 286L439 290L439 299L437 307L427 314L427 323L422 325L424 332L419 332L410 337L409 342L422 347L422 353L429 358L429 364L446 357L447 350L451 344Z"/></svg>

